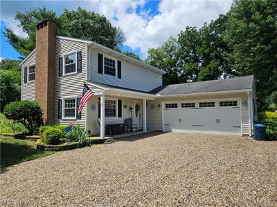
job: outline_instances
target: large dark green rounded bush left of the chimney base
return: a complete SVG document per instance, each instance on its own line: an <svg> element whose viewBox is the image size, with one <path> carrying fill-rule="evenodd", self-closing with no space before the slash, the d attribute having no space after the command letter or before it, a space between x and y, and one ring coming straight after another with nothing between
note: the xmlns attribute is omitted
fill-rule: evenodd
<svg viewBox="0 0 277 207"><path fill-rule="evenodd" d="M33 134L39 126L42 126L42 108L36 101L15 101L8 103L4 109L4 114L8 119L17 121Z"/></svg>

